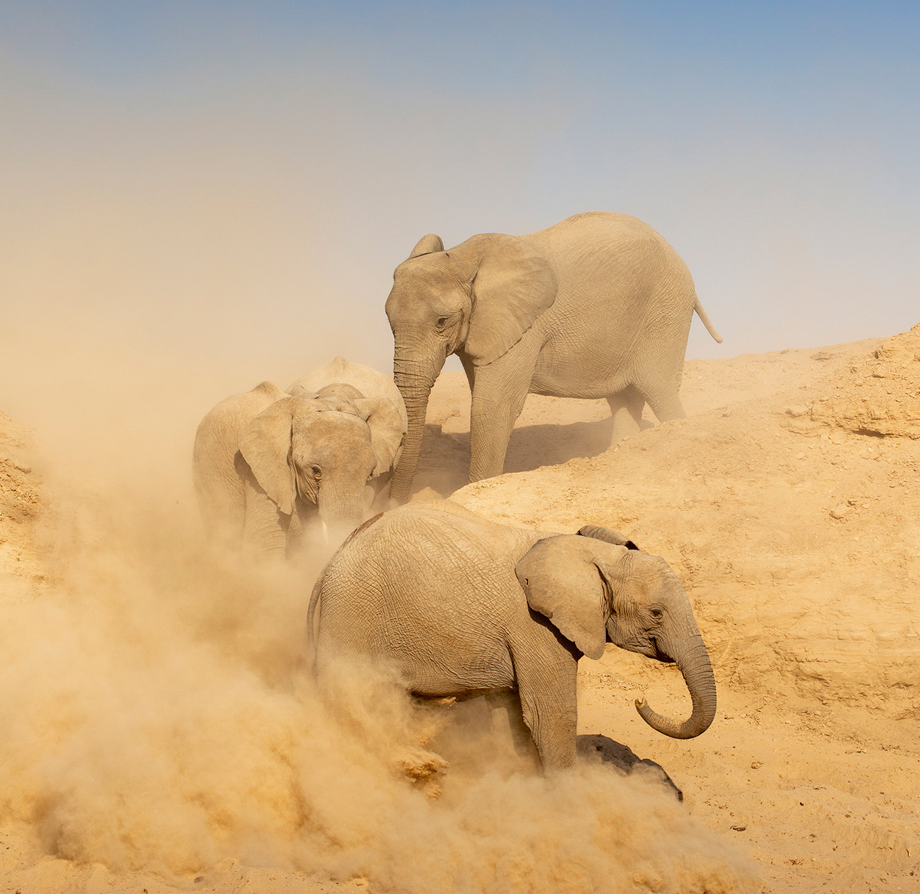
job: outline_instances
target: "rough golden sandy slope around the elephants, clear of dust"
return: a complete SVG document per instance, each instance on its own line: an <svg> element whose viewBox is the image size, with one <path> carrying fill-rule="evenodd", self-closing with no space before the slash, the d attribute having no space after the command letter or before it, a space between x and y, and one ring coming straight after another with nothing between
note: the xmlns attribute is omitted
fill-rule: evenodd
<svg viewBox="0 0 920 894"><path fill-rule="evenodd" d="M454 499L491 518L543 529L609 525L678 571L714 660L713 728L684 742L646 727L633 696L687 710L679 674L608 648L582 662L581 730L661 762L693 814L750 849L767 891L920 888L912 338L688 362L689 418L650 423L607 453L605 402L531 395L509 474L467 487L466 381L446 373L432 394L417 496L457 490ZM23 433L0 423L0 561L29 576L38 489L18 458ZM176 889L41 856L15 829L0 845L0 891L11 894ZM188 883L355 885L232 860Z"/></svg>

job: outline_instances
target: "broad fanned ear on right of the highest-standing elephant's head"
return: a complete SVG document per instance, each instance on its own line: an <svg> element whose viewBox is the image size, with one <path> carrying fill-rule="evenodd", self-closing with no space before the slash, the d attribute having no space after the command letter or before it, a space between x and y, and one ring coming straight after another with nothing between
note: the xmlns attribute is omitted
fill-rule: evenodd
<svg viewBox="0 0 920 894"><path fill-rule="evenodd" d="M464 350L477 366L498 360L556 300L556 273L514 236L480 237L485 250L473 280L473 312Z"/></svg>

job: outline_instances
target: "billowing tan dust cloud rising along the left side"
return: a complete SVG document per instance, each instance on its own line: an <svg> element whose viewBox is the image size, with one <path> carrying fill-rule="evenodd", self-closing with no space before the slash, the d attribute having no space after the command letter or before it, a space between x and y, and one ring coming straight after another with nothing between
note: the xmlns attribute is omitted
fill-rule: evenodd
<svg viewBox="0 0 920 894"><path fill-rule="evenodd" d="M291 873L400 894L750 887L749 859L648 779L589 763L544 778L482 705L423 709L374 669L316 692L302 632L318 563L216 555L191 443L264 379L337 353L385 369L393 256L367 263L379 284L352 281L379 296L356 331L370 299L315 271L330 227L278 198L284 171L240 160L231 189L220 165L202 174L211 152L109 145L97 125L40 141L45 180L15 203L40 226L13 226L0 265L2 409L36 432L41 504L32 573L0 572L0 834L33 873L21 887L84 887L102 864L155 889L237 889L228 861L278 869L263 892ZM454 486L462 454L439 461Z"/></svg>

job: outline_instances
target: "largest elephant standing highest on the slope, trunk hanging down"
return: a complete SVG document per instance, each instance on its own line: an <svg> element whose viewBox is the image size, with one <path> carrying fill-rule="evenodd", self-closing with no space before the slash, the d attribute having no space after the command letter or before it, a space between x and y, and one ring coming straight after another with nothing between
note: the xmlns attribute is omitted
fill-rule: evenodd
<svg viewBox="0 0 920 894"><path fill-rule="evenodd" d="M408 409L391 496L408 499L431 386L449 355L472 393L469 480L478 481L501 474L528 394L605 397L611 445L638 431L646 403L662 422L684 418L678 391L694 311L721 342L684 261L627 214L576 214L446 251L440 236L423 236L386 299Z"/></svg>

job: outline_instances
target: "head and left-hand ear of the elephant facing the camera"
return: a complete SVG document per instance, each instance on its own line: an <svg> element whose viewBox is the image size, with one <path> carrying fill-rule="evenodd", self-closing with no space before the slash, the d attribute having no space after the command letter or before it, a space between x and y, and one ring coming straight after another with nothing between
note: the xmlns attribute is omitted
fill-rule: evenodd
<svg viewBox="0 0 920 894"><path fill-rule="evenodd" d="M240 433L239 451L282 513L291 515L299 496L316 505L333 536L350 533L371 508L377 457L359 408L284 397Z"/></svg>

